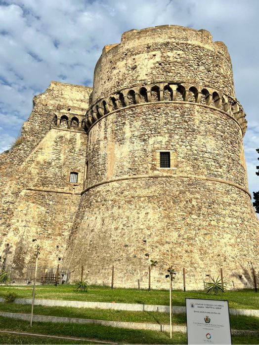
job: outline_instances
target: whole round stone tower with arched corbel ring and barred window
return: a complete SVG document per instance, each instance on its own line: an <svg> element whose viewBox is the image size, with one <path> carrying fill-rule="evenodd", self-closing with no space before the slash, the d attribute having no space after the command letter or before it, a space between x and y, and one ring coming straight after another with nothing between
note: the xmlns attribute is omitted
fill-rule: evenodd
<svg viewBox="0 0 259 345"><path fill-rule="evenodd" d="M259 222L248 191L245 113L231 60L206 30L131 30L105 46L87 111L86 180L65 263L91 283L165 287L169 250L182 285L220 268L250 286Z"/></svg>

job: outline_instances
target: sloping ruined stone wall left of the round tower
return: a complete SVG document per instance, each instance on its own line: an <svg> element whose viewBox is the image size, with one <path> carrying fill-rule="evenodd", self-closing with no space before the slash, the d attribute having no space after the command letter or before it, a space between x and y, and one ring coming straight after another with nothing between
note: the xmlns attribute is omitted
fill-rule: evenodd
<svg viewBox="0 0 259 345"><path fill-rule="evenodd" d="M52 82L35 97L21 137L0 155L5 264L31 265L33 239L41 245L42 264L57 265L64 255L83 189L87 135L81 123L77 129L58 128L53 119L64 114L82 119L90 93L91 88ZM78 183L69 182L70 172L78 173Z"/></svg>

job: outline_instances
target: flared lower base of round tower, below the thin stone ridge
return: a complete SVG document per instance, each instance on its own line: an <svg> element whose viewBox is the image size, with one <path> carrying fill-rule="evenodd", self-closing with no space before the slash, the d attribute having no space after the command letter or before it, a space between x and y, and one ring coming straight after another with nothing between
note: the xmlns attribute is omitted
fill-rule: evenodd
<svg viewBox="0 0 259 345"><path fill-rule="evenodd" d="M65 262L73 280L81 265L89 283L167 288L172 252L174 287L203 288L206 275L223 268L229 287L252 287L251 267L258 271L259 224L249 196L228 184L195 178L142 178L115 181L90 189L82 197ZM72 259L71 259L72 256Z"/></svg>

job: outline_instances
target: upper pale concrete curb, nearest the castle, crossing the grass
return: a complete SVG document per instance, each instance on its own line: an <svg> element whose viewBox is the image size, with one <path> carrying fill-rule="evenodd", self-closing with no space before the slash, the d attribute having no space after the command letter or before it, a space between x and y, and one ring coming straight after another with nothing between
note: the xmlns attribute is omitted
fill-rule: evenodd
<svg viewBox="0 0 259 345"><path fill-rule="evenodd" d="M3 298L0 298L0 302L4 302ZM30 298L16 298L14 303L16 304L32 304ZM129 304L129 303L108 303L108 302L88 302L88 301L66 301L66 300L35 300L37 306L49 306L49 307L74 307L74 308L99 308L99 309L113 309L121 311L158 311L168 312L169 306L150 305L150 304ZM185 313L185 307L175 306L173 307L173 313ZM229 309L230 315L245 315L245 316L257 316L259 317L259 310L257 309Z"/></svg>

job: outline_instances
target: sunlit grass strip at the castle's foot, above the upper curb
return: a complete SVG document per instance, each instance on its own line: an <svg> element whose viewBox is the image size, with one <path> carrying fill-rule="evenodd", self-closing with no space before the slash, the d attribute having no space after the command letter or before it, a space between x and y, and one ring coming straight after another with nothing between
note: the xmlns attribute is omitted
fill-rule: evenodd
<svg viewBox="0 0 259 345"><path fill-rule="evenodd" d="M20 298L31 298L31 286L0 286L0 297L4 297L7 291L13 291ZM184 306L185 297L228 300L229 308L259 309L259 293L253 289L226 291L219 296L207 295L204 291L173 291L173 305ZM169 293L167 290L137 290L137 289L111 289L105 286L89 286L89 291L76 292L74 285L39 285L36 288L36 298L55 300L76 300L115 303L159 304L169 305Z"/></svg>

